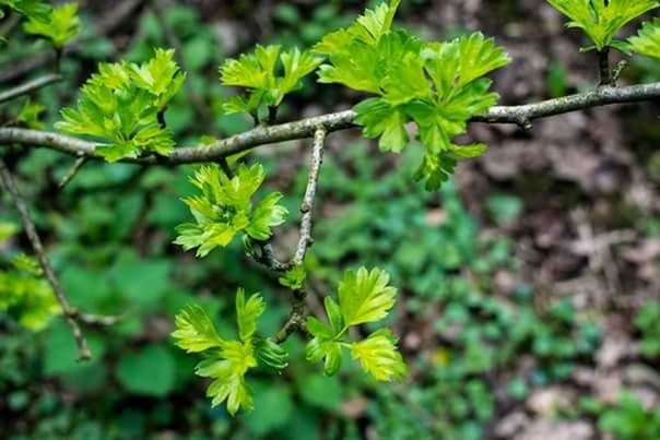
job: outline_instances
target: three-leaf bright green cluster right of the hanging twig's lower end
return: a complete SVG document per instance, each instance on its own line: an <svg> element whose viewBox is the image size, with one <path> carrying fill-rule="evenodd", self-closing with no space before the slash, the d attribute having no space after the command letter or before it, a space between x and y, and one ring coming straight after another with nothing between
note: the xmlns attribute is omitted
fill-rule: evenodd
<svg viewBox="0 0 660 440"><path fill-rule="evenodd" d="M388 283L389 275L378 267L347 271L339 284L339 305L329 296L325 300L330 325L313 317L307 319L307 330L314 336L307 344L307 360L316 364L325 359L323 372L332 376L341 367L345 347L376 380L401 380L406 376L408 367L389 330L380 329L364 341L346 342L350 326L380 321L394 306L397 289Z"/></svg>

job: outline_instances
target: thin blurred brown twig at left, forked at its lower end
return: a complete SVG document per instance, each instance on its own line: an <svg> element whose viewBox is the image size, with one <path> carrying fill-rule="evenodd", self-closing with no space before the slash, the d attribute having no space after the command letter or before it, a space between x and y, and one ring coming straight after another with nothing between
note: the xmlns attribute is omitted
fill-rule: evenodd
<svg viewBox="0 0 660 440"><path fill-rule="evenodd" d="M37 255L37 260L39 265L42 266L42 271L44 271L44 276L50 284L52 292L62 308L62 312L64 314L64 319L69 323L71 328L71 333L73 334L73 338L75 340L75 344L78 345L79 352L79 360L89 360L92 358L92 352L90 352L90 347L87 346L87 341L79 325L79 321L86 324L96 324L96 325L111 325L119 321L121 317L98 317L94 314L82 313L74 307L71 307L69 300L67 299L67 295L64 294L64 289L62 288L59 278L55 274L52 266L50 265L50 261L46 255L46 251L44 250L44 246L42 243L42 239L37 234L36 227L30 217L30 212L27 211L27 205L25 201L19 193L19 189L16 188L16 183L14 182L14 178L9 170L9 167L4 163L2 158L0 158L0 181L2 186L7 189L7 191L11 194L14 205L19 211L19 215L21 216L21 223L25 228L25 234L27 235L27 239L32 245L34 252Z"/></svg>

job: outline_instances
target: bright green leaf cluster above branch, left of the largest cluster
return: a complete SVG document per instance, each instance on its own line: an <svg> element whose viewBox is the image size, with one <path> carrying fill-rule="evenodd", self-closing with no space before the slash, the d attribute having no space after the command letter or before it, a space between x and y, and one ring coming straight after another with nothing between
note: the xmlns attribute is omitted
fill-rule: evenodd
<svg viewBox="0 0 660 440"><path fill-rule="evenodd" d="M309 51L294 48L281 52L280 46L257 45L252 53L227 59L220 67L224 85L245 87L248 97L234 96L224 104L226 114L248 112L258 118L262 106L276 107L284 96L300 87L300 81L321 63ZM282 74L279 74L281 63Z"/></svg>

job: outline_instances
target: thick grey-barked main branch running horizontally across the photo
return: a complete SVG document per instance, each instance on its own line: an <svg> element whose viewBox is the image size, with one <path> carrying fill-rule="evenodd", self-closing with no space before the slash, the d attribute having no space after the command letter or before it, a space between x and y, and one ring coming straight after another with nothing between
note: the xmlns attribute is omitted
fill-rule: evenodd
<svg viewBox="0 0 660 440"><path fill-rule="evenodd" d="M495 106L485 115L475 116L473 122L517 123L529 128L534 119L545 118L612 104L630 104L660 99L660 82L626 87L602 86L597 90L519 106ZM355 112L345 110L302 119L276 126L258 126L244 133L233 135L209 145L176 148L168 157L149 155L126 158L121 162L143 165L180 165L217 162L223 157L254 148L259 145L311 138L318 127L328 133L354 128ZM19 128L0 128L0 143L42 146L74 156L103 159L94 152L93 143L68 135Z"/></svg>

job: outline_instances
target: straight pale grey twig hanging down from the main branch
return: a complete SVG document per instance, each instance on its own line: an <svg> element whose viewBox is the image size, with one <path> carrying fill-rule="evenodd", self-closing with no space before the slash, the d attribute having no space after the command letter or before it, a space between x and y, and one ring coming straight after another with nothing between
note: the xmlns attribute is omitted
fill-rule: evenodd
<svg viewBox="0 0 660 440"><path fill-rule="evenodd" d="M303 198L303 204L300 205L300 213L303 213L303 218L300 219L300 237L298 238L298 246L296 247L295 254L291 262L292 266L303 263L305 253L307 253L307 248L314 242L314 239L311 238L311 211L314 209L314 199L316 197L319 174L321 164L323 162L325 143L326 129L319 127L314 132L314 146L311 151L311 163L309 165L309 177L307 178L307 189L305 190L305 197Z"/></svg>

